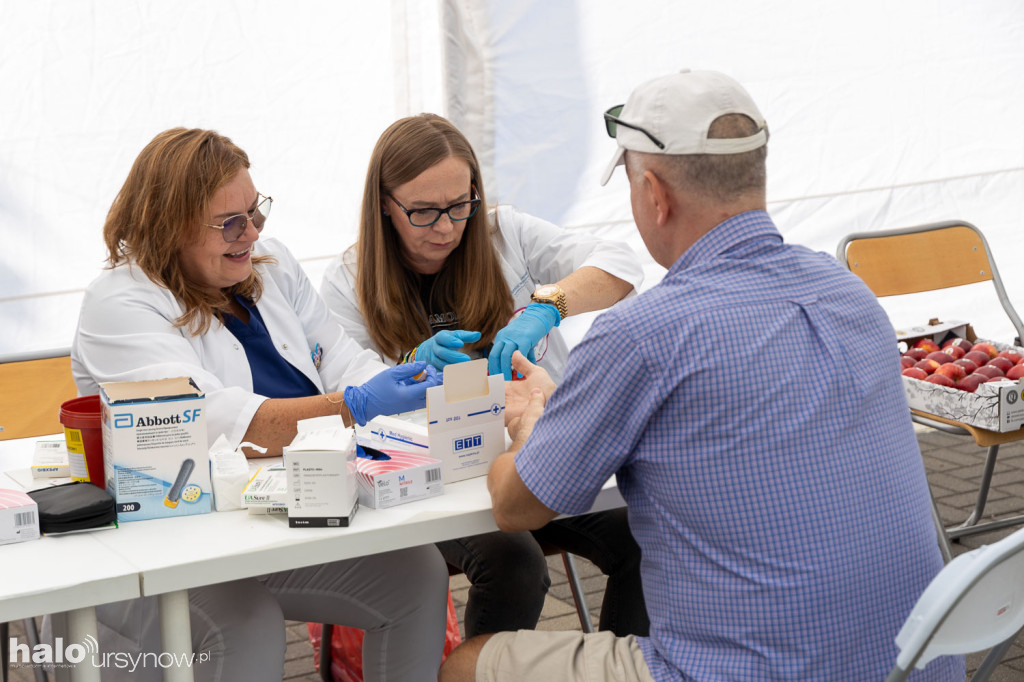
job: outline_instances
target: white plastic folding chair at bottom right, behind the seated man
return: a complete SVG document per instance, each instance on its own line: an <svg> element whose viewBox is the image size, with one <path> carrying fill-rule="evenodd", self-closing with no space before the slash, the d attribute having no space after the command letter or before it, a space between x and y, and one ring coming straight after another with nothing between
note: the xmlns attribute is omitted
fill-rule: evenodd
<svg viewBox="0 0 1024 682"><path fill-rule="evenodd" d="M1024 529L962 554L922 593L896 635L888 682L941 655L991 649L972 682L987 680L1024 628Z"/></svg>

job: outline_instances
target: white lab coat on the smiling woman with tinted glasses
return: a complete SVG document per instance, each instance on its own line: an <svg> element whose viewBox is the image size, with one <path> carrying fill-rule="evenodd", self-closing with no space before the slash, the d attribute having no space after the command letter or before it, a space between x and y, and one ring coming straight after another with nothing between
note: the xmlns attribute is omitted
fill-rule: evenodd
<svg viewBox="0 0 1024 682"><path fill-rule="evenodd" d="M386 369L377 353L344 333L281 242L260 240L253 254L278 260L256 266L263 275L263 295L256 307L270 338L316 388L342 390ZM104 270L85 291L72 344L78 392L98 393L99 384L108 381L191 377L206 393L209 442L223 433L237 447L266 397L253 392L249 360L234 335L214 319L206 334L191 336L174 326L183 312L171 292L137 266ZM316 344L323 349L318 369L312 359Z"/></svg>

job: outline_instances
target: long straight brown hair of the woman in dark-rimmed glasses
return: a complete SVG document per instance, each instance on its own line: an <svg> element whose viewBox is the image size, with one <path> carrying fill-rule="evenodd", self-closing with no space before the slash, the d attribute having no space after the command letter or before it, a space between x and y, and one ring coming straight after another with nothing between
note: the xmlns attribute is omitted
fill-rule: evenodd
<svg viewBox="0 0 1024 682"><path fill-rule="evenodd" d="M354 247L359 310L370 338L388 357L400 357L431 331L420 301L419 275L402 258L398 232L382 213L383 198L450 157L469 165L481 210L466 222L461 243L437 273L435 295L456 311L463 329L481 332L475 347L494 341L512 314L512 294L490 239L495 227L487 220L486 196L473 147L458 128L439 116L420 114L401 119L381 134L370 158Z"/></svg>

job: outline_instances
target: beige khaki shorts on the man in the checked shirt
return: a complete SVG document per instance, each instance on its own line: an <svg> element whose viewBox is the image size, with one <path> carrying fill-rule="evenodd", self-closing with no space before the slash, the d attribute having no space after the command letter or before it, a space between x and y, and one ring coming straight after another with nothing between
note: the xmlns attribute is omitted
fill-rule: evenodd
<svg viewBox="0 0 1024 682"><path fill-rule="evenodd" d="M539 630L494 635L480 650L476 679L653 682L633 635Z"/></svg>

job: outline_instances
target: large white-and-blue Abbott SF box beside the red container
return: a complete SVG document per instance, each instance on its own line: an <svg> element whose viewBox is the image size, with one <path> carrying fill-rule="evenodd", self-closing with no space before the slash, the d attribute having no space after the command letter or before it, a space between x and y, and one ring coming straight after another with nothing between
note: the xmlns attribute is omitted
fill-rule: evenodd
<svg viewBox="0 0 1024 682"><path fill-rule="evenodd" d="M119 521L213 509L206 407L188 377L99 386L103 469Z"/></svg>

